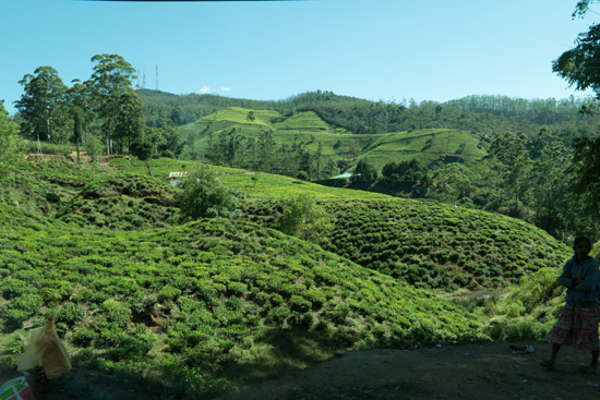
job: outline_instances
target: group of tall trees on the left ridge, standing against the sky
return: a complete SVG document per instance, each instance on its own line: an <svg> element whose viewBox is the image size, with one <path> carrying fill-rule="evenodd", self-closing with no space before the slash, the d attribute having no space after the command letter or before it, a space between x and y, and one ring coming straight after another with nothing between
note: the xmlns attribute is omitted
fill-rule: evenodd
<svg viewBox="0 0 600 400"><path fill-rule="evenodd" d="M118 54L96 54L92 62L89 78L73 80L71 86L48 65L23 76L19 83L24 93L15 101L19 113L14 118L21 135L39 142L73 143L77 158L80 146L91 137L101 141L106 155L141 151L146 159L147 153L179 156L184 143L173 125L146 126L146 108L132 86L136 78L133 66Z"/></svg>

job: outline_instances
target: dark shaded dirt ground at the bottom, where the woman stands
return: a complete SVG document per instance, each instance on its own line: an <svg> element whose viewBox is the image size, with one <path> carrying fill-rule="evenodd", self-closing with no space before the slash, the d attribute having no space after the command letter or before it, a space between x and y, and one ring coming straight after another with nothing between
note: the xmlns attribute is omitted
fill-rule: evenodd
<svg viewBox="0 0 600 400"><path fill-rule="evenodd" d="M600 374L585 375L589 352L564 348L557 371L538 365L550 343L530 343L532 354L512 353L508 343L452 344L413 350L349 351L314 367L266 380L235 399L527 399L600 398ZM131 392L111 377L72 371L85 389L59 387L58 380L34 386L39 400L95 398L151 400L165 397ZM17 374L14 374L17 376ZM98 375L98 376L94 376ZM0 373L1 377L7 374ZM14 376L11 376L14 377ZM97 379L96 379L97 378ZM79 379L76 379L79 380ZM599 385L596 387L595 385ZM37 387L36 387L37 386ZM83 389L83 390L82 390ZM74 391L74 392L71 392ZM83 396L82 396L83 395ZM167 397L169 398L169 397Z"/></svg>

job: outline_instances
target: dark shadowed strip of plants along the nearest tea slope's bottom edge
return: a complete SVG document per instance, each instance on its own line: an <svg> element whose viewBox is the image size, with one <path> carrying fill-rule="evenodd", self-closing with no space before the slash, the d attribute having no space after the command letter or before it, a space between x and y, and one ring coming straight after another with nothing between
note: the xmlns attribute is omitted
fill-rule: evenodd
<svg viewBox="0 0 600 400"><path fill-rule="evenodd" d="M191 353L110 361L109 351L87 348L71 355L73 369L63 376L41 383L31 374L27 380L38 400L214 399L236 393L243 398L257 384L331 360L345 350L324 331L271 328L257 335L249 349L205 354L202 363ZM14 354L0 359L5 361L2 369L14 372L7 380L21 375Z"/></svg>

